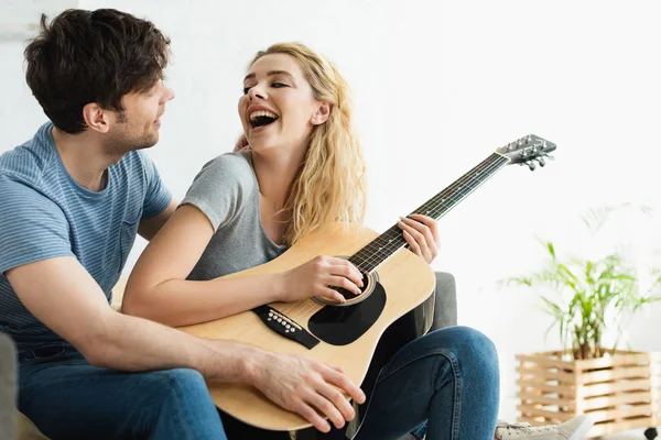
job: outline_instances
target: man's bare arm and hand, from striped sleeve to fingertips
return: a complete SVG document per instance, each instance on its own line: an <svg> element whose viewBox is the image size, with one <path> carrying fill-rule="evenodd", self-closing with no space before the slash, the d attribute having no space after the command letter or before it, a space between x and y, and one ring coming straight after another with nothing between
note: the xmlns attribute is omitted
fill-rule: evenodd
<svg viewBox="0 0 661 440"><path fill-rule="evenodd" d="M342 372L307 356L204 340L116 312L73 256L21 265L6 275L28 310L93 365L121 371L189 367L209 380L248 383L322 431L329 426L317 411L338 428L355 415L338 388L365 402L360 388Z"/></svg>

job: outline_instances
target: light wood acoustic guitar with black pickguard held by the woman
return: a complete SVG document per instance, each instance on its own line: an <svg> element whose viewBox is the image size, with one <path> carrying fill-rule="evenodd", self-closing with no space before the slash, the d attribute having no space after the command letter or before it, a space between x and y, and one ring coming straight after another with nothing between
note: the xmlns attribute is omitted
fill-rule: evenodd
<svg viewBox="0 0 661 440"><path fill-rule="evenodd" d="M552 158L549 153L555 147L531 134L497 148L413 213L440 219L506 165L528 165L534 169L537 164L543 166ZM346 432L353 438L369 407L381 367L401 346L424 334L432 323L434 273L426 262L404 248L407 242L397 224L378 234L357 224L334 223L304 237L273 261L226 277L284 272L318 255L335 255L347 257L364 274L360 295L336 288L347 299L343 305L319 297L273 302L181 329L202 338L305 354L342 366L368 396L349 424L351 432ZM290 432L311 427L250 385L209 382L208 388L220 409L248 425Z"/></svg>

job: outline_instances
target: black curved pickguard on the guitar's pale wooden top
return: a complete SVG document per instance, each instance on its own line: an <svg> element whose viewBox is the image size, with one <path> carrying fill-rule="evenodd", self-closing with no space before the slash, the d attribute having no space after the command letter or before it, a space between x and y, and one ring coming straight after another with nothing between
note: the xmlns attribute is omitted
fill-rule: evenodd
<svg viewBox="0 0 661 440"><path fill-rule="evenodd" d="M346 306L325 306L307 322L310 331L332 345L350 344L360 338L379 319L386 307L386 290L380 283L365 300Z"/></svg>

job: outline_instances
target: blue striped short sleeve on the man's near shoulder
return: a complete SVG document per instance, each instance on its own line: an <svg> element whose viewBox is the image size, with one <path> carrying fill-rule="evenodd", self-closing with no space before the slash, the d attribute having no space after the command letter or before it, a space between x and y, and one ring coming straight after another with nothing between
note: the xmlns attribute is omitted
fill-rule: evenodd
<svg viewBox="0 0 661 440"><path fill-rule="evenodd" d="M0 177L0 273L42 260L74 255L68 221L55 202L8 177Z"/></svg>

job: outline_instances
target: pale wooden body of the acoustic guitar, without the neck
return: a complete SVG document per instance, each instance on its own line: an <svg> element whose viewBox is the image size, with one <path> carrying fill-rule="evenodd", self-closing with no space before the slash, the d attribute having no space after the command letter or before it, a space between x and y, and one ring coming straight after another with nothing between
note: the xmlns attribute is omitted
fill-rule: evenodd
<svg viewBox="0 0 661 440"><path fill-rule="evenodd" d="M318 255L348 256L376 237L377 232L362 227L334 223L300 240L278 258L227 277L280 273ZM286 316L302 330L319 340L312 349L279 334L251 310L181 329L202 338L231 340L280 353L304 354L329 365L340 366L354 383L364 385L369 398L376 376L389 356L429 330L433 316L432 292L435 286L435 276L430 265L405 249L393 253L380 264L377 274L378 282L372 283L373 293L356 305L336 307L317 304L312 299L269 305L269 308ZM316 331L323 337L315 334L310 328L311 320L314 321L319 316L322 320L317 319L317 329L323 331ZM379 344L381 336L393 323L395 326L389 332L391 337L384 338ZM329 339L332 343L324 339ZM375 356L377 345L379 350ZM368 367L370 377L365 381ZM366 386L370 389L366 389ZM280 408L250 385L210 382L208 388L218 408L248 425L278 431L311 427L305 419ZM367 403L362 407L367 407Z"/></svg>

